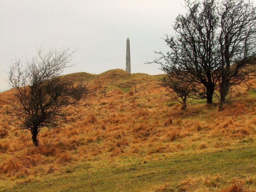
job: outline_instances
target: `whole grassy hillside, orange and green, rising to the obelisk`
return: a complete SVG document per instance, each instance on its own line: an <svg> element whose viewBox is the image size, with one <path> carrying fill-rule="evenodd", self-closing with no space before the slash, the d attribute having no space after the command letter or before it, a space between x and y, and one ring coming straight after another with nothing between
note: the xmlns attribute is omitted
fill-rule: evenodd
<svg viewBox="0 0 256 192"><path fill-rule="evenodd" d="M1 115L0 191L255 191L256 94L237 87L221 112L204 100L182 111L157 77L100 74L106 97L100 90L87 108L68 107L85 115L42 130L39 147ZM0 110L13 99L11 90L0 93Z"/></svg>

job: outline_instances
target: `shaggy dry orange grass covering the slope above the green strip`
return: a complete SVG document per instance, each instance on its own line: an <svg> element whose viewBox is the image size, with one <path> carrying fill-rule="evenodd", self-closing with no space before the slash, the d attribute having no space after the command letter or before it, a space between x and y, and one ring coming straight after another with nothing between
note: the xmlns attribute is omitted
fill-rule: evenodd
<svg viewBox="0 0 256 192"><path fill-rule="evenodd" d="M106 76L105 80L111 84L111 78ZM120 83L120 79L113 81ZM168 107L173 99L154 81L138 83L136 93L107 87L106 97L99 92L86 108L68 107L71 117L78 112L85 115L74 126L42 130L37 148L30 132L8 127L1 116L0 178L48 174L59 171L64 164L99 156L111 161L118 156L198 153L247 146L256 140L256 101L243 90L239 90L243 100L217 112L218 106L198 103L184 111L178 103ZM11 91L0 93L0 110L5 110L9 97ZM45 170L40 169L42 166ZM194 181L189 180L180 187L193 185Z"/></svg>

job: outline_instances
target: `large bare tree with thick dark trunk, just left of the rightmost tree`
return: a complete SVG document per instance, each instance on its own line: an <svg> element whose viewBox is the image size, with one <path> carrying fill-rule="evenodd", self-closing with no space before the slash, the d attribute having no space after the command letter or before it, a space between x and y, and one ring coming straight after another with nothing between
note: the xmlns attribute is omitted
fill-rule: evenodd
<svg viewBox="0 0 256 192"><path fill-rule="evenodd" d="M173 26L175 36L166 35L165 42L170 51L166 54L156 52L161 57L153 62L160 64L160 69L167 74L178 73L181 80L186 74L189 81L199 85L195 87L195 99L205 98L207 103L212 103L218 82L218 15L214 0L204 0L202 4L185 0L185 6L188 12L179 15Z"/></svg>

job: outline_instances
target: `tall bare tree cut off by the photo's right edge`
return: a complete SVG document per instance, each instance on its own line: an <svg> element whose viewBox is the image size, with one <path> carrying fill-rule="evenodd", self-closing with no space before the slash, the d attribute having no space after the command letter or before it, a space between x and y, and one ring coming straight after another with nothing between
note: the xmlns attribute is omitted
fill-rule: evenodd
<svg viewBox="0 0 256 192"><path fill-rule="evenodd" d="M256 7L245 0L218 2L220 107L232 87L255 78Z"/></svg>

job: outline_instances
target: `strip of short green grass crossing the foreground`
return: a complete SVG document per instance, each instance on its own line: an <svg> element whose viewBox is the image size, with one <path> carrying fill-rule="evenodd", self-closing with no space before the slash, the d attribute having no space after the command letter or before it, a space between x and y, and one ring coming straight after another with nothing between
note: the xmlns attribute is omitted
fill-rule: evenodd
<svg viewBox="0 0 256 192"><path fill-rule="evenodd" d="M164 183L175 189L188 175L194 178L219 173L225 179L235 176L246 179L243 173L256 173L255 146L193 155L156 154L150 159L144 158L123 157L113 164L102 161L82 163L64 168L61 174L38 177L29 183L2 187L2 190L148 191L155 185L164 186Z"/></svg>

